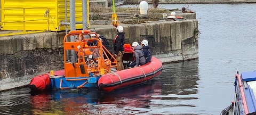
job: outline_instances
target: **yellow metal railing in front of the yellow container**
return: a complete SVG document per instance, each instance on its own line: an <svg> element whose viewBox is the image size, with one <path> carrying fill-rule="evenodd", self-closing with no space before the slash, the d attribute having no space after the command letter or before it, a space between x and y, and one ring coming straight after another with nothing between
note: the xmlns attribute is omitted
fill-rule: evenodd
<svg viewBox="0 0 256 115"><path fill-rule="evenodd" d="M23 7L23 8L0 9L2 15L5 15L4 14L5 10L19 10L19 9L21 9L23 11L23 13L22 13L23 14L23 20L0 22L1 27L3 26L4 23L23 22L22 32L13 32L13 33L8 33L8 34L0 34L0 36L10 36L10 35L31 34L31 33L35 33L35 32L44 32L45 30L27 31L26 30L26 24L25 24L28 21L47 20L47 28L49 28L49 12L45 12L45 14L44 14L44 17L46 16L45 18L47 18L47 19L25 20L26 19L26 12L25 12L26 9L42 9L42 8L45 8L46 11L49 11L48 7ZM4 17L2 17L2 18L4 18ZM2 21L2 19L1 19L1 21Z"/></svg>

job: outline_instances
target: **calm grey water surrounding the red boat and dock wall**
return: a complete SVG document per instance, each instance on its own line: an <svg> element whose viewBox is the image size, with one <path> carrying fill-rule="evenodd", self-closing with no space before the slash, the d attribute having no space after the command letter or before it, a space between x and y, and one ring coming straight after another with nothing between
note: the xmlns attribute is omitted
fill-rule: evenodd
<svg viewBox="0 0 256 115"><path fill-rule="evenodd" d="M234 100L236 71L256 67L256 4L159 5L183 6L197 14L198 60L164 64L148 84L112 93L2 92L0 114L220 114Z"/></svg>

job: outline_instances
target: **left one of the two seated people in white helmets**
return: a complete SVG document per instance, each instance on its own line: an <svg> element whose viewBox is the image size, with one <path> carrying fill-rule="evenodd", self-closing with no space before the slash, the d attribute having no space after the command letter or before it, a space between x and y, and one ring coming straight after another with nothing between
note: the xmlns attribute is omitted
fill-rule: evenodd
<svg viewBox="0 0 256 115"><path fill-rule="evenodd" d="M129 64L129 67L138 67L139 65L146 64L146 59L144 57L144 53L142 51L142 47L139 45L138 42L133 42L132 47L134 49L134 57L135 60Z"/></svg>

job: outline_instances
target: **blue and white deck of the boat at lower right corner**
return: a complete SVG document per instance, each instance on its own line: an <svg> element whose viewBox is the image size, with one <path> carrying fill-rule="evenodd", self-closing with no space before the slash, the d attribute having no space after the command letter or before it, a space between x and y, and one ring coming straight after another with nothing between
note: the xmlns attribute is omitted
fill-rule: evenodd
<svg viewBox="0 0 256 115"><path fill-rule="evenodd" d="M249 113L256 111L256 71L241 74Z"/></svg>

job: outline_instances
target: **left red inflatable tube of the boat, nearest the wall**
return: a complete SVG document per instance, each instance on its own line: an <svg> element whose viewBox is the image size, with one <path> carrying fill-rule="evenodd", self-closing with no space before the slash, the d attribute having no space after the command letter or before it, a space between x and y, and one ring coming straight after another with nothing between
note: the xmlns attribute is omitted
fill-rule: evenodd
<svg viewBox="0 0 256 115"><path fill-rule="evenodd" d="M54 71L54 76L64 76L65 70ZM29 83L31 91L44 91L51 89L50 73L44 73L31 79Z"/></svg>

